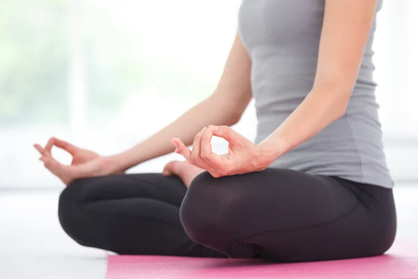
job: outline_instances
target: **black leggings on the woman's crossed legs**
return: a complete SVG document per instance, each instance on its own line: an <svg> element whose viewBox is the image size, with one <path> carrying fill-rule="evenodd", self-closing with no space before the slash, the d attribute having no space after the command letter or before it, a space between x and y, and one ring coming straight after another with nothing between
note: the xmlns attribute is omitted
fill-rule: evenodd
<svg viewBox="0 0 418 279"><path fill-rule="evenodd" d="M71 183L65 232L128 255L264 257L306 262L381 255L394 241L392 190L291 169L215 179L116 174Z"/></svg>

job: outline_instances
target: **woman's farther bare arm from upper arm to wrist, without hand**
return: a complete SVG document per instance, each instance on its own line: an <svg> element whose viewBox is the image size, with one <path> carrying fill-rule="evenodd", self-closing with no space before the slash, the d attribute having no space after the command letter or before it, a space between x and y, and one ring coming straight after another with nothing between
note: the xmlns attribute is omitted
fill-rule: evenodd
<svg viewBox="0 0 418 279"><path fill-rule="evenodd" d="M232 126L237 123L252 98L251 61L237 33L224 72L215 92L178 119L123 153L111 156L117 170L134 167L146 160L174 151L170 140L179 137L191 145L194 136L210 124Z"/></svg>

